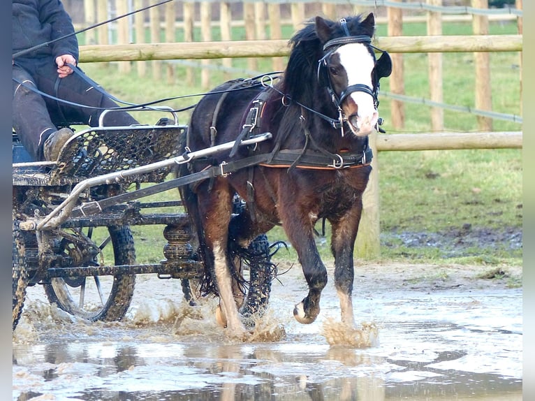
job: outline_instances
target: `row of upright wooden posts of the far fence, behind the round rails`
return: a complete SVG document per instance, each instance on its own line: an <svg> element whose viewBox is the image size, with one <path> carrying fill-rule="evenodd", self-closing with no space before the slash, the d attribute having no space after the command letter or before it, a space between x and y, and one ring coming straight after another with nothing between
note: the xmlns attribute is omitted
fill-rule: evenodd
<svg viewBox="0 0 535 401"><path fill-rule="evenodd" d="M75 0L71 0L73 3ZM108 17L124 15L133 10L138 10L145 6L159 3L161 0L78 0L83 1L85 16L83 22L78 22L78 27L87 27L96 22L107 20ZM416 1L416 0L415 0ZM442 21L448 17L449 21L469 20L472 22L474 35L488 35L489 20L511 20L509 15L447 15L441 13L441 8L445 4L452 3L448 0L420 0L437 8L437 11L408 12L403 5L406 1L392 0L392 3L399 2L400 7L390 6L373 7L358 6L363 1L355 1L355 5L348 3L271 3L268 1L247 1L237 2L211 2L211 1L171 1L161 6L155 6L141 13L135 13L130 17L122 18L112 24L104 24L85 36L86 43L98 45L125 45L127 43L203 43L212 41L263 41L282 40L302 26L308 18L321 14L327 17L336 18L340 15L351 13L374 12L377 20L388 24L388 36L402 36L403 22L413 21L416 18L424 19L427 24L428 36L442 35ZM369 2L368 2L369 3ZM381 2L376 2L381 3ZM488 0L468 0L470 6L485 10L488 9ZM518 10L522 10L522 0L515 0ZM467 18L468 17L468 18ZM514 16L513 16L514 17ZM518 34L522 34L522 17L518 20ZM235 28L240 27L239 31ZM217 36L216 36L217 35ZM179 38L179 39L177 39ZM440 45L444 42L439 41ZM446 43L447 44L447 43ZM159 48L160 53L163 46ZM425 50L417 50L425 52ZM444 50L446 52L447 50ZM469 51L469 50L466 50ZM497 49L497 51L501 51ZM519 50L521 51L521 49ZM225 57L223 51L217 51L221 58L221 68L230 71L233 62L230 57ZM390 78L390 92L394 95L404 95L404 68L402 52L394 52L393 63L396 68ZM441 49L432 50L428 54L428 75L430 81L430 102L440 104L443 102L443 68ZM272 58L272 71L280 71L284 68L284 54L274 54ZM247 58L247 69L258 71L258 55ZM196 58L196 57L195 57ZM210 58L200 59L198 68L189 67L186 71L186 84L194 86L194 80L199 78L200 86L208 89L213 86L210 81L211 69ZM161 58L160 60L164 60ZM488 52L474 53L476 81L475 104L476 110L492 110L492 94L490 85L490 61ZM519 57L520 72L519 80L522 78L522 57ZM212 66L213 67L213 66ZM156 79L163 79L164 75L169 82L175 79L175 66L165 61L152 60L135 63L135 66L128 62L119 64L121 72L128 72L131 68L137 70L138 75L144 77L147 73L152 73ZM226 75L230 78L230 75ZM218 82L219 83L219 82ZM519 94L521 96L521 94ZM404 129L405 107L404 100L393 99L390 102L389 124L393 129ZM521 113L521 110L520 110ZM490 117L478 116L478 128L481 131L492 131L492 119ZM434 106L431 108L431 130L444 130L444 108Z"/></svg>

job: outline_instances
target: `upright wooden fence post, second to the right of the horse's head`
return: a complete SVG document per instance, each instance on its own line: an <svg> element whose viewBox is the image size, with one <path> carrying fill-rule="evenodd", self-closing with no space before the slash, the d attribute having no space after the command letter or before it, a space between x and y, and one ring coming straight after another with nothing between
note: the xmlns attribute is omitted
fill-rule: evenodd
<svg viewBox="0 0 535 401"><path fill-rule="evenodd" d="M432 6L442 6L442 0L427 0ZM442 14L427 12L427 35L442 34ZM432 101L442 103L444 96L442 93L442 53L428 53L429 87ZM431 129L432 131L444 131L444 109L439 107L431 108Z"/></svg>

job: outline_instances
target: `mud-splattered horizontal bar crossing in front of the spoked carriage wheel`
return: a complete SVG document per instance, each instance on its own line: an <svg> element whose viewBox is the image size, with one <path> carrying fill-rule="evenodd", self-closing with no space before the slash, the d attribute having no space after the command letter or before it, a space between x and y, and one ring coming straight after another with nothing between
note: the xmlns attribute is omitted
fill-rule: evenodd
<svg viewBox="0 0 535 401"><path fill-rule="evenodd" d="M144 275L156 273L175 279L195 279L203 275L203 263L193 260L153 263L145 265L78 266L75 268L48 268L46 279L53 277L90 277L105 275Z"/></svg>

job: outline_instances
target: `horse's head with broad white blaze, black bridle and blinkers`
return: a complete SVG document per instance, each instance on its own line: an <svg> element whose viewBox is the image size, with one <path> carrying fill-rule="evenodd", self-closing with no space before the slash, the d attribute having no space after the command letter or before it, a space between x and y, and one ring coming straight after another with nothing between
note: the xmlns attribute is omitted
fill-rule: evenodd
<svg viewBox="0 0 535 401"><path fill-rule="evenodd" d="M388 53L371 44L374 30L372 13L365 20L354 17L337 23L316 17L316 34L323 45L318 79L356 136L367 136L376 129L379 79L392 72ZM379 59L374 49L382 52Z"/></svg>

